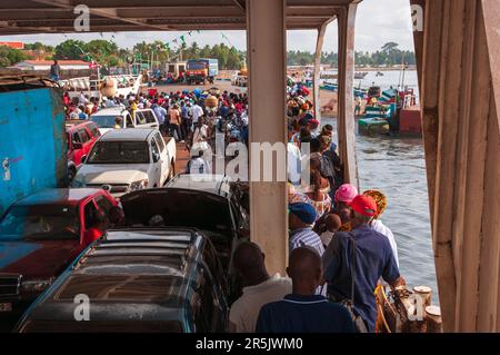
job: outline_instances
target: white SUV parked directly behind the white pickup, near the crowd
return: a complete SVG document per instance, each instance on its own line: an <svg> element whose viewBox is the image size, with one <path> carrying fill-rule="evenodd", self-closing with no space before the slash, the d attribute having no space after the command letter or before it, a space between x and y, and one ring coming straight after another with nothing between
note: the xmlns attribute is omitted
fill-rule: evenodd
<svg viewBox="0 0 500 355"><path fill-rule="evenodd" d="M122 106L104 108L90 116L90 120L96 122L101 135L114 129L117 117L121 117L121 128L159 128L158 117L152 109L139 109L136 111L136 119L132 119L130 111Z"/></svg>

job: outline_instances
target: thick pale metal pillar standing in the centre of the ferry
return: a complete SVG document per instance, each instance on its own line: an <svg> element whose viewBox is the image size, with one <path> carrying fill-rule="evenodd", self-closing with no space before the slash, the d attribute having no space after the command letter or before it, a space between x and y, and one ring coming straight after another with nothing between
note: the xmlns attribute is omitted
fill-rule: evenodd
<svg viewBox="0 0 500 355"><path fill-rule="evenodd" d="M247 0L247 52L249 67L250 145L274 144L284 148L286 120L286 1ZM253 167L250 149L250 177ZM273 159L271 181L250 183L250 238L266 253L270 273L286 275L288 259L287 183L278 181L277 160ZM254 172L254 171L253 171Z"/></svg>

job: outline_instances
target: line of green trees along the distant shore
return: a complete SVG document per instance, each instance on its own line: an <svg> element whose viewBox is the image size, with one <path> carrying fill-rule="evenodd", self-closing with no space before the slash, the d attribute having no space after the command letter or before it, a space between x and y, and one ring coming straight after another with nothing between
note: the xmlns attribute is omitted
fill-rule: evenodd
<svg viewBox="0 0 500 355"><path fill-rule="evenodd" d="M127 62L151 62L160 63L188 60L193 58L216 58L219 60L220 69L238 70L244 66L247 52L229 47L224 43L200 47L197 42L188 46L186 42L170 48L169 43L162 41L139 42L132 49L119 48L116 42L97 39L88 42L68 39L58 46L46 46L41 42L28 43L24 50L11 49L0 46L0 67L13 66L26 59L43 58L50 59L80 59L94 60L104 67L124 67ZM358 67L394 66L407 62L416 63L414 52L398 48L396 42L389 42L376 52L357 51L356 65ZM338 53L322 52L321 63L337 67ZM300 50L288 51L289 66L310 66L314 63L314 53Z"/></svg>

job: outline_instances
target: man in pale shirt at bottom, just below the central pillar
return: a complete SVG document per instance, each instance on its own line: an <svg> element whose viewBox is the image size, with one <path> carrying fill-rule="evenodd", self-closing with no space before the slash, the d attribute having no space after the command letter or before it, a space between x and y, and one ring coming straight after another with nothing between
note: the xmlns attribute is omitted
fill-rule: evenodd
<svg viewBox="0 0 500 355"><path fill-rule="evenodd" d="M229 326L231 333L254 333L260 308L291 294L292 283L280 274L270 276L264 255L254 243L242 243L234 252L234 268L243 282L243 295L231 306Z"/></svg>

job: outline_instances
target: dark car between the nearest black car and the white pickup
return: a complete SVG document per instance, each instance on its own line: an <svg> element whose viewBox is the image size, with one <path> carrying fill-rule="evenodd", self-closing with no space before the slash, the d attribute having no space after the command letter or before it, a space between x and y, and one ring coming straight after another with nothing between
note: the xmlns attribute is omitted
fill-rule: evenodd
<svg viewBox="0 0 500 355"><path fill-rule="evenodd" d="M232 252L249 237L249 216L240 204L238 186L228 177L178 175L166 188L144 189L122 196L127 223L148 226L161 217L161 226L200 229L230 269Z"/></svg>

